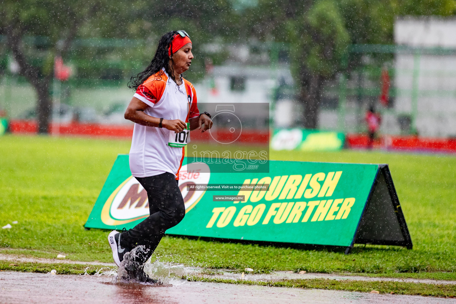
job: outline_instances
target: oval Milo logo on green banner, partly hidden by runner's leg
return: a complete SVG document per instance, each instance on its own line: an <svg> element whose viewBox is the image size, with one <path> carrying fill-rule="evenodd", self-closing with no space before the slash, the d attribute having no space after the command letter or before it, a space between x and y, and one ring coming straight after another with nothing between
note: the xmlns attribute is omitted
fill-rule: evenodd
<svg viewBox="0 0 456 304"><path fill-rule="evenodd" d="M201 169L210 172L206 164ZM187 165L183 165L179 174L179 189L184 198L185 211L190 211L201 200L204 191L188 191L187 185L207 185L210 173L201 173L200 170L187 172ZM101 221L110 226L122 225L149 216L149 199L143 186L133 176L124 180L108 197L101 211Z"/></svg>

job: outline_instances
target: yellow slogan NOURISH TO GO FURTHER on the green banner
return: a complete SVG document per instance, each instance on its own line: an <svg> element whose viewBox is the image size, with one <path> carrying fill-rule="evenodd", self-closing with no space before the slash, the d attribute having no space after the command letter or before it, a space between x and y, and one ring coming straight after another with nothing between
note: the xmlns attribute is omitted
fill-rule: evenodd
<svg viewBox="0 0 456 304"><path fill-rule="evenodd" d="M269 185L268 191L241 190L238 196L244 196L243 203L248 205L215 207L206 227L221 228L229 224L234 227L257 224L320 222L343 220L349 215L355 203L354 197L333 198L342 171L319 172L306 175L279 175L244 180L244 184ZM306 201L304 201L306 200ZM284 201L272 202L269 201ZM238 204L235 201L234 204ZM232 219L234 219L232 221ZM260 220L262 221L260 222Z"/></svg>

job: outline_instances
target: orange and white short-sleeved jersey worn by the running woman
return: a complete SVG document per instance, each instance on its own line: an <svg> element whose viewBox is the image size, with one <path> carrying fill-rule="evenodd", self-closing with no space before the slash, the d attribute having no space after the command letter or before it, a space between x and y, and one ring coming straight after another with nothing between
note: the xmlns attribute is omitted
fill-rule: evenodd
<svg viewBox="0 0 456 304"><path fill-rule="evenodd" d="M153 117L188 122L199 116L192 83L184 79L178 87L165 69L147 78L134 97L149 106L144 113ZM129 157L133 176L148 177L165 172L179 176L185 151L168 145L170 132L173 131L135 124Z"/></svg>

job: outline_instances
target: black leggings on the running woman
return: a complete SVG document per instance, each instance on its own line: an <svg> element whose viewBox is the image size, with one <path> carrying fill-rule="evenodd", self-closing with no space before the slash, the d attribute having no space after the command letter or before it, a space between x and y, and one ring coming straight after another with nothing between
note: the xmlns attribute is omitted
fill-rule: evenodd
<svg viewBox="0 0 456 304"><path fill-rule="evenodd" d="M140 261L144 263L158 246L165 231L182 221L185 216L185 205L174 174L166 172L136 179L147 191L150 216L135 227L122 232L120 246L128 249L139 245L145 246L148 253Z"/></svg>

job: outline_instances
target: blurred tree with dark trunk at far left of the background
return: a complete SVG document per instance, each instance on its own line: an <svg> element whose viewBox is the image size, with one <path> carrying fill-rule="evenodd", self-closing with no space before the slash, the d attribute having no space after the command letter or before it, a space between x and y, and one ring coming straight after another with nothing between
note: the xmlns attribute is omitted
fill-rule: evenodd
<svg viewBox="0 0 456 304"><path fill-rule="evenodd" d="M52 114L51 86L54 60L64 55L79 31L119 33L119 1L95 0L4 0L0 7L0 34L6 36L20 74L37 94L38 133L48 133ZM114 26L114 24L116 26ZM116 30L117 29L117 30ZM35 40L26 43L26 38ZM40 40L39 47L36 40Z"/></svg>

